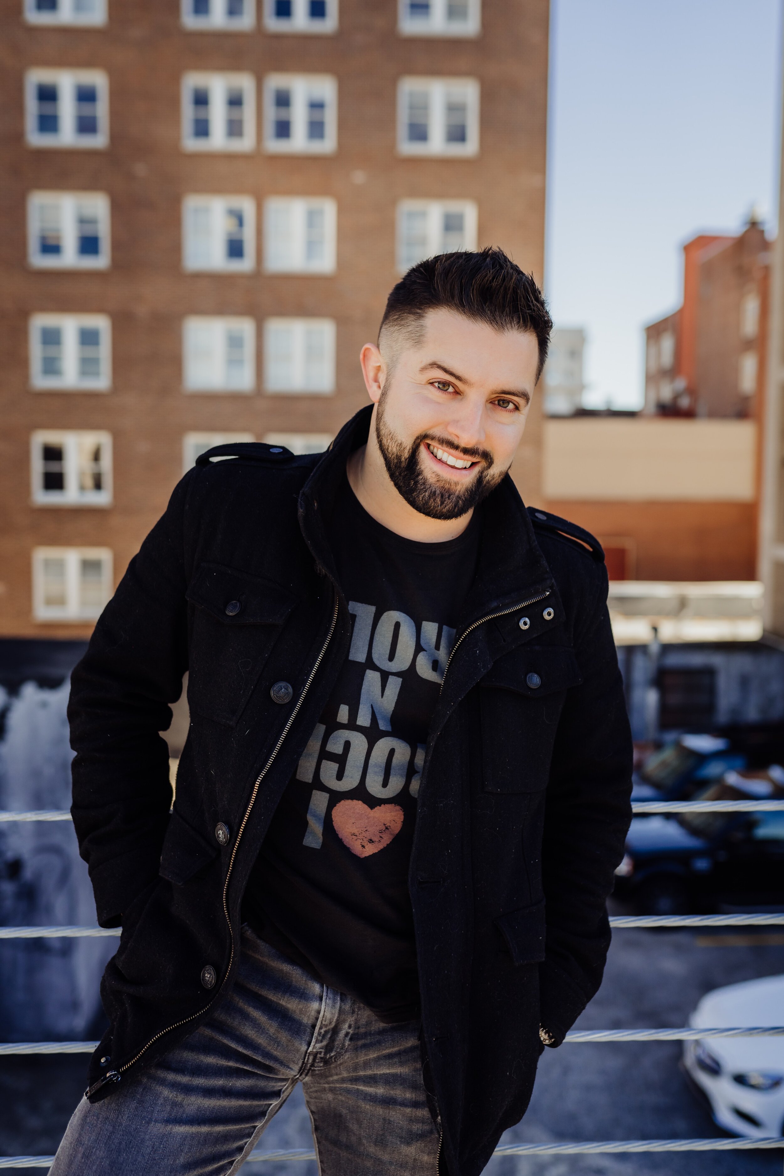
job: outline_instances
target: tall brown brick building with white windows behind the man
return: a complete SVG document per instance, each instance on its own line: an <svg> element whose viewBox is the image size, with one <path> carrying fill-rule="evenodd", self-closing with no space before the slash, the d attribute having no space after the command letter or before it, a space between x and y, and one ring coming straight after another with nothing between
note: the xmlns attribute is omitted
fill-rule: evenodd
<svg viewBox="0 0 784 1176"><path fill-rule="evenodd" d="M418 258L542 274L548 18L0 0L0 635L89 633L210 443L321 448Z"/></svg>

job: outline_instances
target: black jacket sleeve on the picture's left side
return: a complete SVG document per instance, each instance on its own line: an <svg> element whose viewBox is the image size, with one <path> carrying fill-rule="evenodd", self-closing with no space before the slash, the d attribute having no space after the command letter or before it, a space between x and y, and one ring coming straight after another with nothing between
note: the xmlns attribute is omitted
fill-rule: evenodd
<svg viewBox="0 0 784 1176"><path fill-rule="evenodd" d="M73 671L72 815L101 927L158 875L172 804L168 748L187 669L183 521L190 476L130 561Z"/></svg>

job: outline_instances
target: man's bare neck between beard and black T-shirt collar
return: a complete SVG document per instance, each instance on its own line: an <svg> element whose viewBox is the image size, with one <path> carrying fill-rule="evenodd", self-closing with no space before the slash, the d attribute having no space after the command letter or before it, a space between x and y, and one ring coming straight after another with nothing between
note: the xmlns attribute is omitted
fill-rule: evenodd
<svg viewBox="0 0 784 1176"><path fill-rule="evenodd" d="M346 463L348 482L371 519L387 530L418 543L445 543L468 527L474 510L460 519L430 519L409 506L395 488L376 440L376 414L370 421L368 443L355 449Z"/></svg>

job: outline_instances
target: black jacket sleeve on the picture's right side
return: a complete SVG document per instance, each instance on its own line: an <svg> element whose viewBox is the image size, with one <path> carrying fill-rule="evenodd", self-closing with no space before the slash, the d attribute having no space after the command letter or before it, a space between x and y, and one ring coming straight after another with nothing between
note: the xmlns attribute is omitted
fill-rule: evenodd
<svg viewBox="0 0 784 1176"><path fill-rule="evenodd" d="M592 570L598 588L575 627L583 681L569 691L561 716L544 818L541 1023L552 1038L548 1044L556 1045L602 982L610 946L607 898L631 818L631 733L607 609L607 570L604 564Z"/></svg>

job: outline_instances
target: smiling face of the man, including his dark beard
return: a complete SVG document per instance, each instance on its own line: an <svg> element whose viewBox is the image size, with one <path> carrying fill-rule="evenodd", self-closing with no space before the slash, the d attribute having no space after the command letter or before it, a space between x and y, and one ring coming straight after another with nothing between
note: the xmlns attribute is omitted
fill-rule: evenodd
<svg viewBox="0 0 784 1176"><path fill-rule="evenodd" d="M387 473L420 514L458 519L515 456L536 383L536 335L433 310L420 342L390 333L381 354L375 428Z"/></svg>

